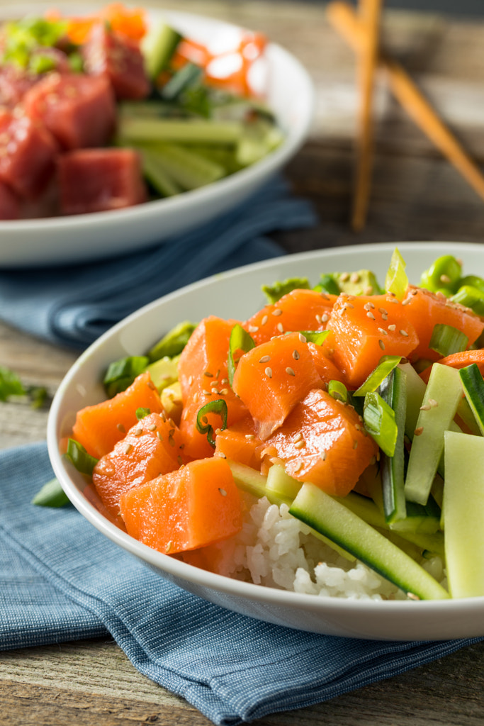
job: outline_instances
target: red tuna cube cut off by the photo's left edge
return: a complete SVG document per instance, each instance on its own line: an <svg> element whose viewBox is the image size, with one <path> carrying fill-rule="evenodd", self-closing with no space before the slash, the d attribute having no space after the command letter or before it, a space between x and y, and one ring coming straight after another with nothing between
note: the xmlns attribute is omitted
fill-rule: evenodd
<svg viewBox="0 0 484 726"><path fill-rule="evenodd" d="M26 115L0 113L0 180L20 197L36 199L55 171L57 143Z"/></svg>

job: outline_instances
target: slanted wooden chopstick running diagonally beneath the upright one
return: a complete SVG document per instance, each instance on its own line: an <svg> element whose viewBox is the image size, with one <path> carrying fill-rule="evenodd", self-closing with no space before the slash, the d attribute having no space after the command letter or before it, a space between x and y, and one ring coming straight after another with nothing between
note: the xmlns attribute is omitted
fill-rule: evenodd
<svg viewBox="0 0 484 726"><path fill-rule="evenodd" d="M327 4L327 17L345 41L359 52L365 44L365 28L356 17L353 8L341 0L333 0ZM422 96L406 70L397 61L381 52L379 64L385 69L392 92L406 113L484 200L483 174L440 120L427 99Z"/></svg>

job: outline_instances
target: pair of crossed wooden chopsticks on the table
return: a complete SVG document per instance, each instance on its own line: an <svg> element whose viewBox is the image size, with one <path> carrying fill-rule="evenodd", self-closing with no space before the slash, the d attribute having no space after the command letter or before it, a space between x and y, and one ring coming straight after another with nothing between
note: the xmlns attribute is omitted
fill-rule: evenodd
<svg viewBox="0 0 484 726"><path fill-rule="evenodd" d="M390 88L409 116L484 200L484 176L435 110L420 93L406 70L380 52L380 15L382 0L360 0L358 15L341 0L327 5L327 17L360 59L361 105L358 135L356 190L353 200L352 226L364 227L371 189L373 137L372 87L377 67L385 70Z"/></svg>

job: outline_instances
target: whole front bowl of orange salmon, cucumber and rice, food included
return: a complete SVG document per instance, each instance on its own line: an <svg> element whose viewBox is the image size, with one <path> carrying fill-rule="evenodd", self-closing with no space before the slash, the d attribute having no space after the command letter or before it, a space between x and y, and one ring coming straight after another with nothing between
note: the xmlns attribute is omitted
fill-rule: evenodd
<svg viewBox="0 0 484 726"><path fill-rule="evenodd" d="M151 303L54 397L65 494L160 576L239 613L348 637L483 635L480 270L479 245L359 245Z"/></svg>

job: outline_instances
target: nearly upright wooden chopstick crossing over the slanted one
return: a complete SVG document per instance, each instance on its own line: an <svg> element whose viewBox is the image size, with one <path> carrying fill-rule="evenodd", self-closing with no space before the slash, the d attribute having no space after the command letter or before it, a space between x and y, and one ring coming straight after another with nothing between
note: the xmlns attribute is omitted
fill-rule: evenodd
<svg viewBox="0 0 484 726"><path fill-rule="evenodd" d="M360 0L360 22L365 40L359 49L358 76L361 87L359 130L356 147L356 187L353 196L351 225L363 229L372 187L373 120L372 101L374 72L378 64L380 15L383 0Z"/></svg>

